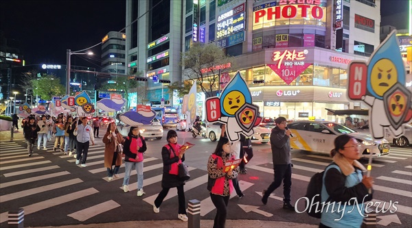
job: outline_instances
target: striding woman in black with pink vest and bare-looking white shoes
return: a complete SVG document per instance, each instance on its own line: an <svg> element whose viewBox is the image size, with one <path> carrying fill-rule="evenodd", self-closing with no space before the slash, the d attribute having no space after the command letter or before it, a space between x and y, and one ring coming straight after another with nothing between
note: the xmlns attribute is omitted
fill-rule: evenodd
<svg viewBox="0 0 412 228"><path fill-rule="evenodd" d="M185 161L185 150L181 149L181 145L177 144L177 134L174 130L168 131L166 136L168 144L165 144L161 149L161 157L163 159L163 176L161 179L161 192L155 199L153 212L160 212L160 205L163 199L168 195L170 188L177 188L177 196L179 198L179 212L177 218L187 222L186 216L186 200L185 190L183 186L185 181L179 179L179 164Z"/></svg>

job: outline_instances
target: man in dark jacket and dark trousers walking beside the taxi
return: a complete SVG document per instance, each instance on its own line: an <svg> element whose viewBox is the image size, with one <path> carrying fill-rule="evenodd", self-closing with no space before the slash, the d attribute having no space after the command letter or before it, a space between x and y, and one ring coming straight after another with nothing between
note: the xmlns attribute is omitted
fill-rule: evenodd
<svg viewBox="0 0 412 228"><path fill-rule="evenodd" d="M290 204L290 186L292 186L292 164L290 163L290 129L286 118L280 116L275 119L276 127L271 133L271 149L273 170L275 171L275 181L271 183L267 190L263 190L262 203L268 203L268 197L284 182L284 205L286 210L295 211L295 207Z"/></svg>

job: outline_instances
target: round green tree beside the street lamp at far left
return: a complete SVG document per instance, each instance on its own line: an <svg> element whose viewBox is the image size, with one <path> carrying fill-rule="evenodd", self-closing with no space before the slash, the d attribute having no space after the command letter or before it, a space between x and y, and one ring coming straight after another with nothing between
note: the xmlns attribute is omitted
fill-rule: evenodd
<svg viewBox="0 0 412 228"><path fill-rule="evenodd" d="M65 94L66 88L60 79L54 75L42 75L39 79L32 79L33 92L41 99L49 101L53 96Z"/></svg>

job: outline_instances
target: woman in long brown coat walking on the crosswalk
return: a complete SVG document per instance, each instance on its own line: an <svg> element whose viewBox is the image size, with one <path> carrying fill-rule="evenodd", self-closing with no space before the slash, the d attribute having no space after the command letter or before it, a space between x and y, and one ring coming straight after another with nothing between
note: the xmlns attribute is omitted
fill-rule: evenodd
<svg viewBox="0 0 412 228"><path fill-rule="evenodd" d="M104 167L107 168L108 180L119 177L119 168L122 165L122 152L117 151L117 145L123 144L124 139L122 134L117 131L116 124L110 123L107 127L106 134L103 136L104 143ZM113 169L113 165L115 168Z"/></svg>

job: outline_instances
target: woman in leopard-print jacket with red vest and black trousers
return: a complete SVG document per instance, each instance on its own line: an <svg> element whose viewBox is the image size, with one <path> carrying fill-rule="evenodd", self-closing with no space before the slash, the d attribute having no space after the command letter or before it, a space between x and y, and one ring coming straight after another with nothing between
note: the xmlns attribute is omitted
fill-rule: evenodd
<svg viewBox="0 0 412 228"><path fill-rule="evenodd" d="M227 205L231 191L233 190L232 179L238 177L238 167L225 172L225 162L233 160L231 156L231 142L225 137L220 137L216 150L209 156L207 162L207 190L210 198L216 207L216 216L214 219L214 228L224 228L227 216Z"/></svg>

